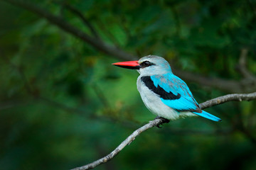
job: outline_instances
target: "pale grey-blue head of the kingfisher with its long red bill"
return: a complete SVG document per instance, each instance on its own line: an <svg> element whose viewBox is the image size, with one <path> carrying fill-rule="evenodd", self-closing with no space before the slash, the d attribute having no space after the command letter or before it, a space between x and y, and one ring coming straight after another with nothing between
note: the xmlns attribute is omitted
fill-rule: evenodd
<svg viewBox="0 0 256 170"><path fill-rule="evenodd" d="M156 55L147 55L138 61L116 62L113 65L126 69L137 69L139 74L144 76L171 72L169 63L163 57Z"/></svg>

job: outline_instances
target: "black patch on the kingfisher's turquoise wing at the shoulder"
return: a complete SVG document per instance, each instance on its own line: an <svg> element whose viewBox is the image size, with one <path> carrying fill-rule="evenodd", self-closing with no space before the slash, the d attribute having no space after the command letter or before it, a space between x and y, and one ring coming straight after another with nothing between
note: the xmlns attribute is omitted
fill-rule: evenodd
<svg viewBox="0 0 256 170"><path fill-rule="evenodd" d="M166 92L161 86L155 86L154 82L151 80L149 76L142 77L141 80L144 82L145 86L153 91L155 94L158 94L164 100L175 100L181 98L181 94L174 95L171 91Z"/></svg>

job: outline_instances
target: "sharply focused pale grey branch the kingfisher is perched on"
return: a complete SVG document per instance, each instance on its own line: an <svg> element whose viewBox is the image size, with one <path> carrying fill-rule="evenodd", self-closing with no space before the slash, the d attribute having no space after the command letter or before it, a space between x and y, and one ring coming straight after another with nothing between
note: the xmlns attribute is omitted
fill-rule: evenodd
<svg viewBox="0 0 256 170"><path fill-rule="evenodd" d="M209 101L203 102L200 104L201 108L209 108L211 106L215 106L221 103L225 103L228 101L250 101L256 99L256 92L251 93L251 94L228 94L225 96L220 96L218 98L213 98ZM96 166L100 164L104 164L111 159L113 159L124 147L129 145L132 141L135 140L135 138L144 132L145 130L148 130L150 128L153 128L154 126L161 125L164 123L163 120L161 119L155 119L152 121L149 121L146 125L142 126L141 128L135 130L132 135L129 135L126 140L124 140L116 149L114 149L110 154L107 154L107 156L102 157L101 159L98 159L95 162L92 162L90 164L87 164L85 166L80 166L78 168L72 169L72 170L86 170L86 169L93 169Z"/></svg>

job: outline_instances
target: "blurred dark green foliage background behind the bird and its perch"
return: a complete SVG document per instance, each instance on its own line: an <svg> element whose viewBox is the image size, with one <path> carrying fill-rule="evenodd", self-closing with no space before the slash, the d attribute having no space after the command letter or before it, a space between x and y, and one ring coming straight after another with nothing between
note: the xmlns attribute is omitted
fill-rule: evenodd
<svg viewBox="0 0 256 170"><path fill-rule="evenodd" d="M0 169L72 169L154 119L138 73L165 57L198 103L256 91L256 1L0 1ZM96 169L256 169L256 102L139 135Z"/></svg>

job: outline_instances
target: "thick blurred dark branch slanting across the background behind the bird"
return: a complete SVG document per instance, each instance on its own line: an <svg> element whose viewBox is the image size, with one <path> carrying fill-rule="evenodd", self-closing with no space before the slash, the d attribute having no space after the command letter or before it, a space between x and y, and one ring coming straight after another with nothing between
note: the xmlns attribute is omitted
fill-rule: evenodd
<svg viewBox="0 0 256 170"><path fill-rule="evenodd" d="M63 18L59 16L55 16L49 13L46 9L40 8L35 4L32 4L28 1L21 1L21 0L1 0L6 1L9 4L13 4L15 6L20 6L21 8L25 8L28 11L36 13L38 16L46 18L50 23L53 25L58 26L60 29L66 31L74 35L77 38L87 42L88 44L95 47L97 50L101 52L105 52L107 55L111 55L116 57L119 60L134 60L138 59L139 57L130 55L129 53L120 50L117 47L112 45L108 45L105 42L99 41L97 38L91 37L84 33L82 30L75 28L74 26L70 25L70 23L63 20ZM203 77L199 74L194 74L191 72L186 72L181 69L174 69L175 73L181 77L182 79L186 79L188 81L194 81L199 84L215 87L224 91L229 91L230 93L244 93L249 91L255 91L256 86L252 84L251 81L233 81L228 79L220 79L220 78L208 78ZM246 88L245 88L246 87Z"/></svg>

